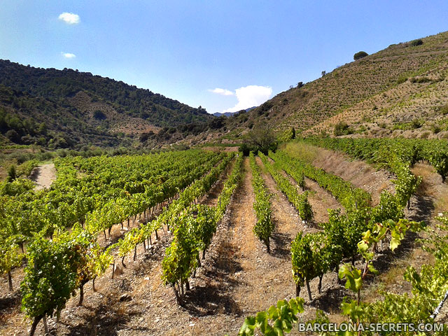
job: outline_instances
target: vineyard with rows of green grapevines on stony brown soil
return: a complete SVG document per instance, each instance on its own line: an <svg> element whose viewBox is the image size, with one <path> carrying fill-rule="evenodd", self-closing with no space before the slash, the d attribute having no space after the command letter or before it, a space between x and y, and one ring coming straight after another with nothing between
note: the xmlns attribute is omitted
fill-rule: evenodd
<svg viewBox="0 0 448 336"><path fill-rule="evenodd" d="M309 156L329 152L365 180ZM1 335L447 321L434 313L448 290L446 141L309 137L248 158L192 149L55 167L50 188L1 183Z"/></svg>

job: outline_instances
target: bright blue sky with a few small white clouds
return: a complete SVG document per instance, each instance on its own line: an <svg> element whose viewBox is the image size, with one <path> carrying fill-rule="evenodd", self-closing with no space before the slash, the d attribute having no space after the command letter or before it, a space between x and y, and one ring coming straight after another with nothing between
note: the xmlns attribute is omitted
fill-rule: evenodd
<svg viewBox="0 0 448 336"><path fill-rule="evenodd" d="M446 0L2 0L0 58L89 71L214 113L261 104L359 50L447 31L447 18Z"/></svg>

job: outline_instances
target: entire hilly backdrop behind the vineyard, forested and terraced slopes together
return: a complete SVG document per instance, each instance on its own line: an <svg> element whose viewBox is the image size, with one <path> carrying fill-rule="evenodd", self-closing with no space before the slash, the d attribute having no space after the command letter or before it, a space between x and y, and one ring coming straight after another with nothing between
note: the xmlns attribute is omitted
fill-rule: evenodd
<svg viewBox="0 0 448 336"><path fill-rule="evenodd" d="M261 106L216 118L110 78L0 61L0 130L9 131L0 141L50 148L229 144L260 124L279 133L294 127L303 135L440 139L448 137L447 69L444 32L389 45Z"/></svg>

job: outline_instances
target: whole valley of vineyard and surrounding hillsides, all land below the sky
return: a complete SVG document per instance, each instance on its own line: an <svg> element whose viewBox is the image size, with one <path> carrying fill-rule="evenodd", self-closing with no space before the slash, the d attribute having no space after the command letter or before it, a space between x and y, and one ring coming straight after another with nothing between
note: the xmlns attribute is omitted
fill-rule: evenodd
<svg viewBox="0 0 448 336"><path fill-rule="evenodd" d="M0 335L446 328L447 51L364 52L228 116L0 60Z"/></svg>

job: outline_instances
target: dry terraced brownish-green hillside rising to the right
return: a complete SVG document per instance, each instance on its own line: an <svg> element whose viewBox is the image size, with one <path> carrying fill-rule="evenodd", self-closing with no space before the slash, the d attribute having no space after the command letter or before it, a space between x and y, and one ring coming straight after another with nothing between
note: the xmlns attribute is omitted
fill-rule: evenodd
<svg viewBox="0 0 448 336"><path fill-rule="evenodd" d="M258 123L304 135L330 135L341 123L339 135L447 137L447 69L448 32L389 45L230 118L221 141Z"/></svg>

